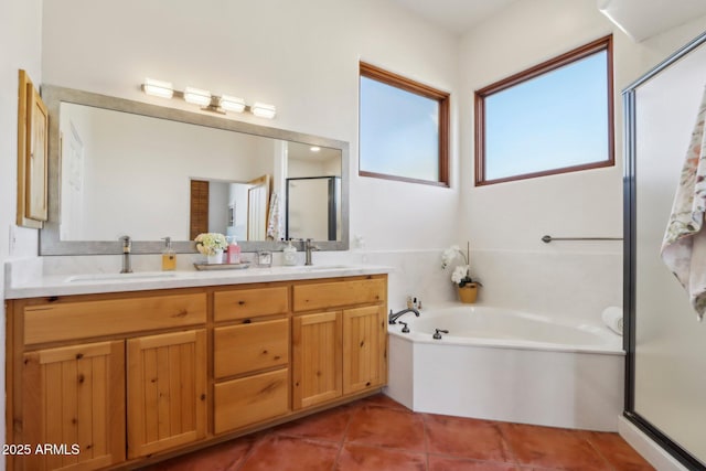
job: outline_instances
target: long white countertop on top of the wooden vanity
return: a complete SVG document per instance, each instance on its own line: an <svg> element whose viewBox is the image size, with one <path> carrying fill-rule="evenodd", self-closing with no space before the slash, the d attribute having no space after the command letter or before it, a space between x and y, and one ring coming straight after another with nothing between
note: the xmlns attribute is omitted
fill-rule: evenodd
<svg viewBox="0 0 706 471"><path fill-rule="evenodd" d="M120 274L42 275L12 280L6 274L6 299L46 296L93 295L100 292L145 291L268 281L291 281L389 274L391 267L374 265L312 265L214 271L142 271ZM10 275L10 276L8 276Z"/></svg>

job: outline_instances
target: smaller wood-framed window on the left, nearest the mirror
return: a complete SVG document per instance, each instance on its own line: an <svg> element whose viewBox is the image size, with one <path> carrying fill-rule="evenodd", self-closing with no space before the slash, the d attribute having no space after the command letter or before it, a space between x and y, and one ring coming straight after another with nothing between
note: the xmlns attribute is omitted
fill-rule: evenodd
<svg viewBox="0 0 706 471"><path fill-rule="evenodd" d="M359 174L448 186L449 94L361 62Z"/></svg>

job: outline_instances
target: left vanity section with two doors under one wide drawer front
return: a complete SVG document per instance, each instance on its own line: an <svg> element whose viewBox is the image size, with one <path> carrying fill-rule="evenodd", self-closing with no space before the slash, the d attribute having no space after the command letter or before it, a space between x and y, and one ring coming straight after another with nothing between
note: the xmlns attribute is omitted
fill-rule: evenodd
<svg viewBox="0 0 706 471"><path fill-rule="evenodd" d="M169 292L8 306L8 443L31 450L8 469L104 469L205 437L206 293Z"/></svg>

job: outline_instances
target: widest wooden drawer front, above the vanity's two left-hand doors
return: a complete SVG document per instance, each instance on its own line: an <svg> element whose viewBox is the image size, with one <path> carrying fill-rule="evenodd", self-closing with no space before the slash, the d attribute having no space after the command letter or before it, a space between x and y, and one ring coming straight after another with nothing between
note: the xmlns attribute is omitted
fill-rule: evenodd
<svg viewBox="0 0 706 471"><path fill-rule="evenodd" d="M24 308L26 345L206 322L206 295L153 296Z"/></svg>

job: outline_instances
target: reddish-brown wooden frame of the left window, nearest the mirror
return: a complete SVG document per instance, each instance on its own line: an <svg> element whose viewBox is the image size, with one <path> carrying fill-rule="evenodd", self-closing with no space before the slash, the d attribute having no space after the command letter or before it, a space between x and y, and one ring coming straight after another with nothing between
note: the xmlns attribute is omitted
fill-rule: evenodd
<svg viewBox="0 0 706 471"><path fill-rule="evenodd" d="M370 172L365 170L361 170L361 160L360 160L360 143L359 143L359 172L360 176L371 176L376 179L385 179L385 180L397 180L402 182L411 182L411 183L421 183L428 185L436 186L449 186L449 100L450 94L447 92L439 90L437 88L430 87L425 84L420 84L419 82L415 82L410 78L404 77L402 75L394 74L392 72L387 72L383 68L379 68L375 65L367 64L365 62L360 63L360 76L371 78L373 81L381 82L383 84L403 89L405 92L409 92L416 95L420 95L425 98L430 98L436 100L439 104L439 180L421 180L421 179L411 179L408 176L399 176L399 175L391 175L386 173L377 173ZM360 105L359 105L360 106ZM360 139L360 135L359 135Z"/></svg>

